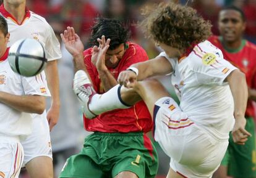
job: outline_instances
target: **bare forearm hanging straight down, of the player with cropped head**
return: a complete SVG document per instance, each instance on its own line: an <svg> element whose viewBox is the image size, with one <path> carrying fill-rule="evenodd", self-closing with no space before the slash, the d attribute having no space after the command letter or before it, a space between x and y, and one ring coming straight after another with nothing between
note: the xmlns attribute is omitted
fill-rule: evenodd
<svg viewBox="0 0 256 178"><path fill-rule="evenodd" d="M46 79L51 93L51 105L55 108L59 108L59 73L58 73L58 62L52 60L48 62L46 66Z"/></svg>

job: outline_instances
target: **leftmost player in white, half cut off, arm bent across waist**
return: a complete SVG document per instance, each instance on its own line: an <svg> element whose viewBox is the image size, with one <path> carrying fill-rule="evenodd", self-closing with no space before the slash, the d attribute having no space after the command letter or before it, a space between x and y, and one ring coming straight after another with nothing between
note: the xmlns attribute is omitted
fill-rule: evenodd
<svg viewBox="0 0 256 178"><path fill-rule="evenodd" d="M45 110L45 75L20 76L7 60L10 34L0 15L0 177L18 178L24 152L20 141L32 132L32 116Z"/></svg>

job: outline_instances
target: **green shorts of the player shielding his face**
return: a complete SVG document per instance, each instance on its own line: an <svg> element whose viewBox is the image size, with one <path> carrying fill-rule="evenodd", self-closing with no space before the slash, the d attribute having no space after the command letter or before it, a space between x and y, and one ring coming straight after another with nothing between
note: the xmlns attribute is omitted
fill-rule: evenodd
<svg viewBox="0 0 256 178"><path fill-rule="evenodd" d="M139 178L156 176L158 155L142 132L91 134L80 153L67 159L59 178L110 178L122 171Z"/></svg>

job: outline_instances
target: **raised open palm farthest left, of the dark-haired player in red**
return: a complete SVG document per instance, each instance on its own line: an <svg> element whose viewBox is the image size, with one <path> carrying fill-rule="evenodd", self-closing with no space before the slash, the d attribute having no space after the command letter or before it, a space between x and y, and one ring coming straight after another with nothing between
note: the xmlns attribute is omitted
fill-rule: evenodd
<svg viewBox="0 0 256 178"><path fill-rule="evenodd" d="M73 27L67 26L67 29L64 30L64 33L61 33L61 39L65 44L67 51L69 51L71 55L78 55L83 53L83 43L79 36L75 33Z"/></svg>

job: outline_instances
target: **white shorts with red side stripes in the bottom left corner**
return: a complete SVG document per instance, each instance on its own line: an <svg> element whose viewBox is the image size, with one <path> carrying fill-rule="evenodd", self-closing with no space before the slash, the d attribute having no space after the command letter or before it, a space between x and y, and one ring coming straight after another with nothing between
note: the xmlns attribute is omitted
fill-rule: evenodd
<svg viewBox="0 0 256 178"><path fill-rule="evenodd" d="M24 152L19 142L0 143L0 177L18 178L23 158Z"/></svg>

